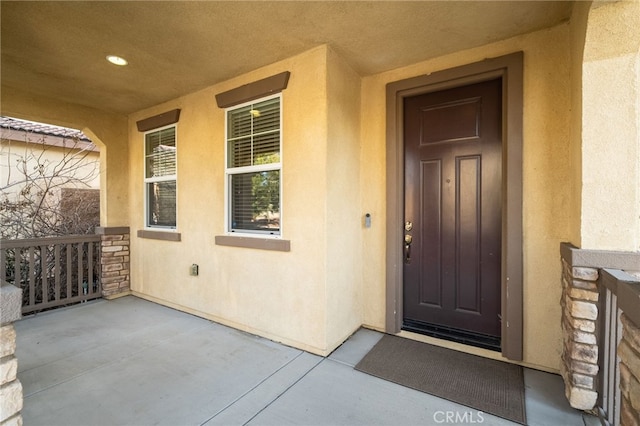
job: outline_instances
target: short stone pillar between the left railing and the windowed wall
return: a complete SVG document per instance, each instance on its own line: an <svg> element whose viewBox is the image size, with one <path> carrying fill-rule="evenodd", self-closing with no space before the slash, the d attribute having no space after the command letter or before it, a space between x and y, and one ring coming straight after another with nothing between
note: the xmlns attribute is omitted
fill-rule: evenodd
<svg viewBox="0 0 640 426"><path fill-rule="evenodd" d="M129 227L99 227L102 296L113 298L130 294Z"/></svg>

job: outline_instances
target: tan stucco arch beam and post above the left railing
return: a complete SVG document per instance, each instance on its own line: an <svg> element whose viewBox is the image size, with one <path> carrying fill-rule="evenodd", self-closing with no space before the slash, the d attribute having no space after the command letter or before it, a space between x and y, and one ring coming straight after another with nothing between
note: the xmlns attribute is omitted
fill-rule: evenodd
<svg viewBox="0 0 640 426"><path fill-rule="evenodd" d="M126 117L4 87L1 105L2 115L80 129L98 145L102 189L100 224L127 224L129 149Z"/></svg>

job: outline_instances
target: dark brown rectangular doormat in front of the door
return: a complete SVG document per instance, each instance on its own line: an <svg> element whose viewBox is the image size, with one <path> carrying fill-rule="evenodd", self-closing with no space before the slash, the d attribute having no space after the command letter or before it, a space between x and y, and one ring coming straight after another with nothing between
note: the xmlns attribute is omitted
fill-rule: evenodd
<svg viewBox="0 0 640 426"><path fill-rule="evenodd" d="M385 334L356 370L526 424L522 367Z"/></svg>

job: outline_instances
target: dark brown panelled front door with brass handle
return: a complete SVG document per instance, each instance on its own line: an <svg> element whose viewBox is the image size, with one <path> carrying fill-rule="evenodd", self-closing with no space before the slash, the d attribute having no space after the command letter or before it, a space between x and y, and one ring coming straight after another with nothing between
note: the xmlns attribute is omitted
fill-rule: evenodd
<svg viewBox="0 0 640 426"><path fill-rule="evenodd" d="M405 98L403 328L500 348L502 80Z"/></svg>

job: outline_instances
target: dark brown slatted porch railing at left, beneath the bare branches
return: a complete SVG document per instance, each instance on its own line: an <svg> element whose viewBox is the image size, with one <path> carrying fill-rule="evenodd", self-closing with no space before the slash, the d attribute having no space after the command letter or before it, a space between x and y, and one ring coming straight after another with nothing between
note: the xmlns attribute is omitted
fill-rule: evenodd
<svg viewBox="0 0 640 426"><path fill-rule="evenodd" d="M23 289L23 314L99 298L100 236L1 240L0 278Z"/></svg>

